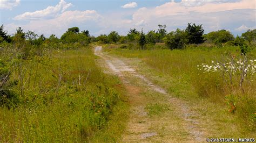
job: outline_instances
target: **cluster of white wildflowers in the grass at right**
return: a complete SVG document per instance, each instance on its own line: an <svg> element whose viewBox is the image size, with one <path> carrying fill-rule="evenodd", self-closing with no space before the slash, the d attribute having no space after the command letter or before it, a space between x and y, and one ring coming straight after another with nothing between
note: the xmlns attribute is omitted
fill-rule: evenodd
<svg viewBox="0 0 256 143"><path fill-rule="evenodd" d="M212 61L212 65L207 65L202 63L201 65L197 65L198 70L203 70L205 72L220 72L227 71L229 73L237 73L239 71L243 71L248 73L251 71L252 74L256 71L256 60L239 60L239 61L231 61L226 63L214 62Z"/></svg>

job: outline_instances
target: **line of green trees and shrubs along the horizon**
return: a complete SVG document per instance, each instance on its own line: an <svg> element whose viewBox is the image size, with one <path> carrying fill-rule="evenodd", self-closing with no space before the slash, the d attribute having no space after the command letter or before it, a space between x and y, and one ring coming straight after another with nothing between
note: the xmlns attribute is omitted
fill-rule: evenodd
<svg viewBox="0 0 256 143"><path fill-rule="evenodd" d="M232 46L239 46L242 53L246 53L250 48L248 45L255 45L256 30L248 30L239 37L227 30L213 31L204 34L202 25L188 23L184 30L177 28L175 31L167 32L166 25L158 25L158 30L151 30L146 34L143 30L138 31L136 28L131 28L127 35L119 35L118 32L112 31L109 34L100 34L98 37L91 36L88 30L80 31L78 27L71 27L59 38L52 34L49 38L44 35L37 35L35 32L23 32L19 27L14 36L10 36L8 32L4 31L4 26L0 27L0 42L25 42L28 41L30 45L41 45L45 43L53 44L80 44L88 45L91 42L99 42L101 44L133 44L138 45L140 49L145 49L146 45L156 45L156 43L165 43L170 49L183 49L189 44L213 44L221 47L223 44Z"/></svg>

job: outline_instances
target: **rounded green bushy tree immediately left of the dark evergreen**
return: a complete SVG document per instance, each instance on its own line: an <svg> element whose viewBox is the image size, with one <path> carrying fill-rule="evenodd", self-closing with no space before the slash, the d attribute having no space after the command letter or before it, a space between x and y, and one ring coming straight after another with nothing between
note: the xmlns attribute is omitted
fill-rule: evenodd
<svg viewBox="0 0 256 143"><path fill-rule="evenodd" d="M182 49L188 43L187 33L184 30L177 29L166 35L165 44L172 49Z"/></svg>

